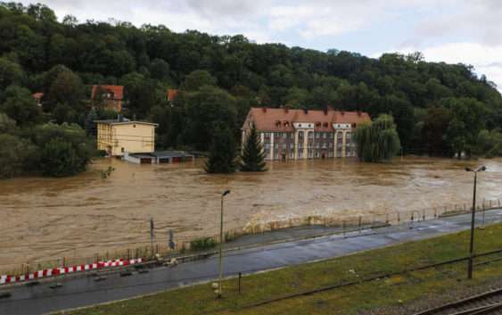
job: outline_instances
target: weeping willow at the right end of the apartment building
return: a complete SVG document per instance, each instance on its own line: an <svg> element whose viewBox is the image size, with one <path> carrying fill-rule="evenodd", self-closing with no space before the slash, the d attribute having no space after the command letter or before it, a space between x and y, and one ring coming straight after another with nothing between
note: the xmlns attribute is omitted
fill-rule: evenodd
<svg viewBox="0 0 502 315"><path fill-rule="evenodd" d="M390 161L401 147L391 115L383 114L369 124L360 125L354 137L358 144L358 157L362 162Z"/></svg>

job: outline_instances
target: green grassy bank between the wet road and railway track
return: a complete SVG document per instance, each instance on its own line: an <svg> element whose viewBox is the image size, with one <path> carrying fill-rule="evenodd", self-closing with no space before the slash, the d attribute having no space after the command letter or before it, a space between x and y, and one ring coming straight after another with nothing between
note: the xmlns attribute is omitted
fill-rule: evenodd
<svg viewBox="0 0 502 315"><path fill-rule="evenodd" d="M470 281L465 280L466 263L462 261L258 307L245 306L287 294L464 257L468 241L469 233L465 231L260 273L243 278L242 294L238 294L237 280L229 279L224 284L222 300L215 299L210 284L206 284L74 311L72 314L350 314L374 308L384 308L386 311L383 313L391 313L391 310L399 310L399 305L404 303L417 303L424 298L433 300L436 295L447 291L463 290L481 286L486 281L502 279L502 262L476 266L474 279ZM478 253L499 248L502 248L502 225L477 230ZM487 259L479 258L477 262Z"/></svg>

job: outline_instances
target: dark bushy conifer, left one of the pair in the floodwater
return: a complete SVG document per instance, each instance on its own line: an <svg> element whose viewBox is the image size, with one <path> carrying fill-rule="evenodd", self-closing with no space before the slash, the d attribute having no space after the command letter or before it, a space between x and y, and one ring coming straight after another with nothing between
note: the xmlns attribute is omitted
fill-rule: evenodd
<svg viewBox="0 0 502 315"><path fill-rule="evenodd" d="M215 127L204 170L208 173L233 173L237 168L236 158L237 143L232 130L222 125Z"/></svg>

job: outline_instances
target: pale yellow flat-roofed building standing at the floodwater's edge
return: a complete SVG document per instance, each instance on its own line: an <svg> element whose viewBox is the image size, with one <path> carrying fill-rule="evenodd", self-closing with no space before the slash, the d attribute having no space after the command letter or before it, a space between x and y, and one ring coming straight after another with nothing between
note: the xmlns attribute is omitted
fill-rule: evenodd
<svg viewBox="0 0 502 315"><path fill-rule="evenodd" d="M155 128L158 124L144 121L96 120L97 148L111 156L124 153L155 151Z"/></svg>

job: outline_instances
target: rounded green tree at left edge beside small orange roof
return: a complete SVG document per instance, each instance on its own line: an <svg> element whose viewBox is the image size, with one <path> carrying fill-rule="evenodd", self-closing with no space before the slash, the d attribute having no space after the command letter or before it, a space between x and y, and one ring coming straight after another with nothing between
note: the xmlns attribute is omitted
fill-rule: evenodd
<svg viewBox="0 0 502 315"><path fill-rule="evenodd" d="M25 87L7 87L0 100L0 112L16 120L20 126L36 123L40 119L40 109Z"/></svg>

